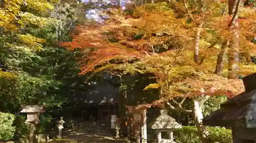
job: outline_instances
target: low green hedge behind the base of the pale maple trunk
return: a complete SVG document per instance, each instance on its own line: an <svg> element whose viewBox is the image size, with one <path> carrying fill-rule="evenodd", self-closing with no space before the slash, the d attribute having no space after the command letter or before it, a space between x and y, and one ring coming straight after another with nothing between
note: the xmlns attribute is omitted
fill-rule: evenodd
<svg viewBox="0 0 256 143"><path fill-rule="evenodd" d="M207 127L210 136L207 143L231 143L232 135L231 130L219 127ZM193 126L184 126L182 129L174 131L176 142L179 143L200 143L200 138L197 134L197 128Z"/></svg>

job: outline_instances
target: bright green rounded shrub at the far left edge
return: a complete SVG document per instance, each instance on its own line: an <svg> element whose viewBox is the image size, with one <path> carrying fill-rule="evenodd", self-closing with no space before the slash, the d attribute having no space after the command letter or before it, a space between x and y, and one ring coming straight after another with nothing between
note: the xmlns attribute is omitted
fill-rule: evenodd
<svg viewBox="0 0 256 143"><path fill-rule="evenodd" d="M15 115L0 112L0 140L12 139L15 132L13 121Z"/></svg>

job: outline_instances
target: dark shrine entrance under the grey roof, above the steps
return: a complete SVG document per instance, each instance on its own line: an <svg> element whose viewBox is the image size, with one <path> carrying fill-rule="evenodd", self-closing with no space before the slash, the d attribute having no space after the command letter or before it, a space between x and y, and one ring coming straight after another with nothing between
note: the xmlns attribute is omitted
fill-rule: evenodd
<svg viewBox="0 0 256 143"><path fill-rule="evenodd" d="M111 121L111 115L119 116L119 104L84 104L84 121Z"/></svg>

